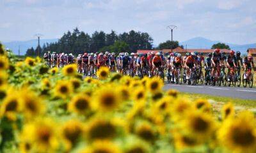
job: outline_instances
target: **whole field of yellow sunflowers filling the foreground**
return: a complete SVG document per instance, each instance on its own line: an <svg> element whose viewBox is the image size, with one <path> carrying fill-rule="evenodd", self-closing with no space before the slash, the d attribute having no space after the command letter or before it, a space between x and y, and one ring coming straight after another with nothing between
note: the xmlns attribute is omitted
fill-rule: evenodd
<svg viewBox="0 0 256 153"><path fill-rule="evenodd" d="M13 62L1 47L0 152L256 152L251 112L228 103L216 115L207 99L163 91L160 78L97 75Z"/></svg>

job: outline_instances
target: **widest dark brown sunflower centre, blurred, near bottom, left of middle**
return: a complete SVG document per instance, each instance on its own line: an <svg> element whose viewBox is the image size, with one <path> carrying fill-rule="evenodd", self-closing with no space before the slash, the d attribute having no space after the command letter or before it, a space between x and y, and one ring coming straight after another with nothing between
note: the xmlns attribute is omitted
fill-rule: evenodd
<svg viewBox="0 0 256 153"><path fill-rule="evenodd" d="M89 122L86 135L90 140L111 139L117 134L116 128L109 120L95 118Z"/></svg>

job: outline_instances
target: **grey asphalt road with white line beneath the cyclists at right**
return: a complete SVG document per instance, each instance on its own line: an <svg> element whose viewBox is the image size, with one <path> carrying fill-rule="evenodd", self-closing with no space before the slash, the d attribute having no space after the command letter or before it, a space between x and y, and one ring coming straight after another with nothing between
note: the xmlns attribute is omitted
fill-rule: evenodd
<svg viewBox="0 0 256 153"><path fill-rule="evenodd" d="M212 96L223 96L230 98L240 99L253 99L256 100L255 88L244 87L218 87L206 85L175 85L165 84L164 89L176 89L180 92L189 92L196 94L210 94Z"/></svg>

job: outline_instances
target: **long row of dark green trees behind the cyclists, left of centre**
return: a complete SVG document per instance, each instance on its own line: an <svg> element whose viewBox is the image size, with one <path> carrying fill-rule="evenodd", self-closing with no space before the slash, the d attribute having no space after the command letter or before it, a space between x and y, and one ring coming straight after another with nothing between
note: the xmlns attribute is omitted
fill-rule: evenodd
<svg viewBox="0 0 256 153"><path fill-rule="evenodd" d="M92 36L79 29L63 34L56 43L46 43L42 48L29 48L26 55L40 55L48 50L51 52L65 52L74 55L84 52L137 52L138 49L152 49L153 39L148 33L129 31L129 33L116 34L95 31Z"/></svg>

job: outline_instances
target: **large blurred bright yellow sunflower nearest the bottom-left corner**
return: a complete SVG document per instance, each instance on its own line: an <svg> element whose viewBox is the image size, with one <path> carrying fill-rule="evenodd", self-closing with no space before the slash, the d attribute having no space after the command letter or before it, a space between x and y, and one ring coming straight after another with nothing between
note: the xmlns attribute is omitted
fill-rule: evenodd
<svg viewBox="0 0 256 153"><path fill-rule="evenodd" d="M53 152L58 147L57 133L55 131L55 122L51 119L36 119L24 125L20 135L21 142L33 142L31 152ZM26 144L25 144L26 147ZM50 151L51 150L51 151Z"/></svg>

